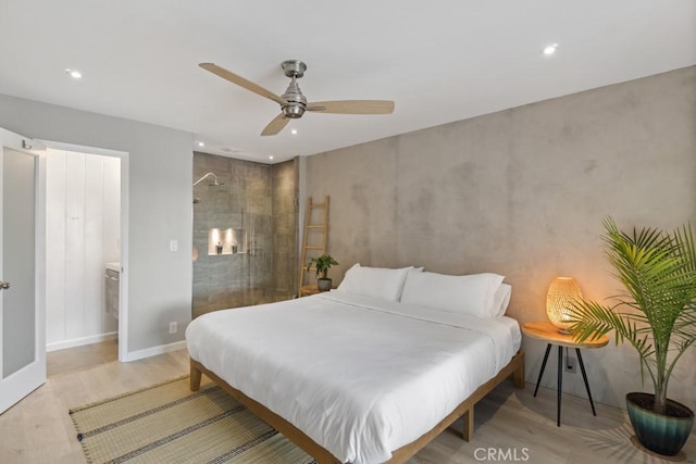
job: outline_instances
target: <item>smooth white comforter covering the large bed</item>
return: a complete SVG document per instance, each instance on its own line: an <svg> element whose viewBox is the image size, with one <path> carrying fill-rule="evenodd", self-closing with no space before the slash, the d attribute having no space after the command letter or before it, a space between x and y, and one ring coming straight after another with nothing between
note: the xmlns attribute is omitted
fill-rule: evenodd
<svg viewBox="0 0 696 464"><path fill-rule="evenodd" d="M336 291L216 311L191 358L343 462L380 463L433 428L519 348L484 321Z"/></svg>

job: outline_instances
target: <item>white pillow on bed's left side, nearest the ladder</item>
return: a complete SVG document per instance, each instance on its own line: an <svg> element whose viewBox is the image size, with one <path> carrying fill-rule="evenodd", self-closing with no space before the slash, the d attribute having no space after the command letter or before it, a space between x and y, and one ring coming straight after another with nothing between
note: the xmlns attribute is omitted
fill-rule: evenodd
<svg viewBox="0 0 696 464"><path fill-rule="evenodd" d="M387 301L399 301L403 283L413 266L401 268L363 267L356 263L346 271L343 281L336 291L364 294Z"/></svg>

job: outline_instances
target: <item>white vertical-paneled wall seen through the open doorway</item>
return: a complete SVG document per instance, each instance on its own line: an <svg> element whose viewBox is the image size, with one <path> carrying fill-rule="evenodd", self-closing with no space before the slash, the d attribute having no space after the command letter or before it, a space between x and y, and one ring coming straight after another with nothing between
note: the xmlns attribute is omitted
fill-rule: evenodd
<svg viewBox="0 0 696 464"><path fill-rule="evenodd" d="M49 351L117 330L104 311L104 263L120 261L121 160L49 149L46 160Z"/></svg>

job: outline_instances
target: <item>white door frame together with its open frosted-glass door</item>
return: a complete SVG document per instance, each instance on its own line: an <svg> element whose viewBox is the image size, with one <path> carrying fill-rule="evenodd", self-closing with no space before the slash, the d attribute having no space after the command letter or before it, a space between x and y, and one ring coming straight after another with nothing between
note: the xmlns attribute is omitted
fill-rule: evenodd
<svg viewBox="0 0 696 464"><path fill-rule="evenodd" d="M127 358L128 153L32 140L0 128L0 413L46 380L47 150L120 159L119 359ZM34 231L33 231L34 230Z"/></svg>

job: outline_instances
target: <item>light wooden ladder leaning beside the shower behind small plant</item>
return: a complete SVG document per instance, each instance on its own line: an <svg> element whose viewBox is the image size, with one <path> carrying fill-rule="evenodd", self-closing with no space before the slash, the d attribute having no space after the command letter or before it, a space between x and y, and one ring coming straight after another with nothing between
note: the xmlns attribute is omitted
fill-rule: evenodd
<svg viewBox="0 0 696 464"><path fill-rule="evenodd" d="M307 210L304 211L304 235L302 235L302 261L300 262L300 285L299 297L313 294L319 291L316 284L308 285L306 279L313 277L315 267L307 271L307 263L312 258L319 258L326 253L328 241L328 197L323 203L314 203L312 198L307 199Z"/></svg>

